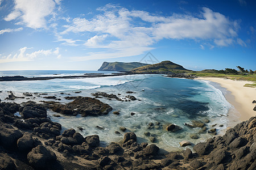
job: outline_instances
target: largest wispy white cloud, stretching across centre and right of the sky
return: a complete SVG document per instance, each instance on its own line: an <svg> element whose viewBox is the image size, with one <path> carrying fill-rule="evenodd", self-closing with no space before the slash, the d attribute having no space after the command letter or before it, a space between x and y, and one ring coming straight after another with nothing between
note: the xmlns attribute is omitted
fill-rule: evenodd
<svg viewBox="0 0 256 170"><path fill-rule="evenodd" d="M101 14L92 19L74 18L71 24L64 25L65 30L60 33L61 36L68 35L69 32L93 33L95 36L89 37L84 45L107 50L106 53L88 53L88 58L122 57L127 56L123 52L128 50L134 51L128 53L136 56L154 49L151 45L163 39L192 39L208 41L217 46L229 46L236 42L238 36L237 21L207 7L203 7L200 15L196 16L160 16L115 5L106 5L98 10ZM86 59L86 56L83 58Z"/></svg>

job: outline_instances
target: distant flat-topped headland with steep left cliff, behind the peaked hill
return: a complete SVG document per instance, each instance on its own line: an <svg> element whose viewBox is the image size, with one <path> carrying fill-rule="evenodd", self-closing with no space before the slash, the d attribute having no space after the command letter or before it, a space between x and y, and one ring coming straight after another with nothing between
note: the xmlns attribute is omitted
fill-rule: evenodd
<svg viewBox="0 0 256 170"><path fill-rule="evenodd" d="M141 62L104 62L98 71L131 71L147 65Z"/></svg>

